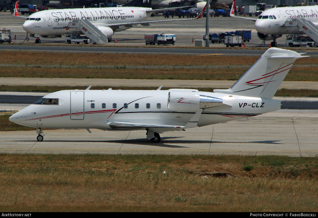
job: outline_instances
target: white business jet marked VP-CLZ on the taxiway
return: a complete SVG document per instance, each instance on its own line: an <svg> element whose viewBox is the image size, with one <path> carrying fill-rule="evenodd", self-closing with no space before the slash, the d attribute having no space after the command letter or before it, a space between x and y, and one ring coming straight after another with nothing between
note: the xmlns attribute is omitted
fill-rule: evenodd
<svg viewBox="0 0 318 218"><path fill-rule="evenodd" d="M225 123L280 109L272 97L301 54L269 48L230 88L202 92L169 90L62 90L10 116L9 120L37 128L146 130L155 143L159 134Z"/></svg>

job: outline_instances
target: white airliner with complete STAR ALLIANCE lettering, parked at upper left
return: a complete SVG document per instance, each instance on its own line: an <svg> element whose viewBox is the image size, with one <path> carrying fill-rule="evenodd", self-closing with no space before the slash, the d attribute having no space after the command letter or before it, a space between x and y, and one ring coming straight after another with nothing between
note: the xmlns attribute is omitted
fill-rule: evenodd
<svg viewBox="0 0 318 218"><path fill-rule="evenodd" d="M142 0L135 0L142 1ZM150 5L149 3L140 3L139 5ZM173 8L175 9L175 8ZM205 8L204 8L205 10ZM203 15L201 11L197 18ZM55 9L47 11L39 11L31 14L23 24L23 29L30 33L31 37L42 36L43 38L56 38L66 34L66 32L80 31L79 29L68 27L69 22L74 20L88 20L103 32L108 39L111 39L114 32L127 30L134 25L149 26L149 23L167 22L176 20L159 20L146 21L154 11L162 11L162 9L152 10L149 7L110 7L110 8L81 8L81 9ZM18 15L18 1L15 8L15 17ZM190 19L177 19L190 20ZM38 38L38 37L37 37Z"/></svg>

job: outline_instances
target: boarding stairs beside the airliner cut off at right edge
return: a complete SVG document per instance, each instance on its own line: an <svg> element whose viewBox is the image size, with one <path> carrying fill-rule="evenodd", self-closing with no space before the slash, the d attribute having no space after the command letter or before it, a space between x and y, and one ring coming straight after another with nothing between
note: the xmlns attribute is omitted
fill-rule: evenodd
<svg viewBox="0 0 318 218"><path fill-rule="evenodd" d="M304 32L312 40L318 43L318 26L305 18L289 19L285 22L285 26L299 27L299 31Z"/></svg>

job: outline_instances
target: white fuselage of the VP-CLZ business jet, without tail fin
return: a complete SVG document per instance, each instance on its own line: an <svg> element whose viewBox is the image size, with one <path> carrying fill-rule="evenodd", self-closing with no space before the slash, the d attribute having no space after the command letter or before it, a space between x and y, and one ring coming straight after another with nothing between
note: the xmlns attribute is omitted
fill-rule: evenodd
<svg viewBox="0 0 318 218"><path fill-rule="evenodd" d="M111 122L184 126L200 108L200 95L222 99L223 104L203 109L198 126L224 123L280 109L278 100L193 89L63 90L43 97L58 99L58 104L31 104L12 115L10 121L36 128L101 130L140 129L116 129L110 126Z"/></svg>

